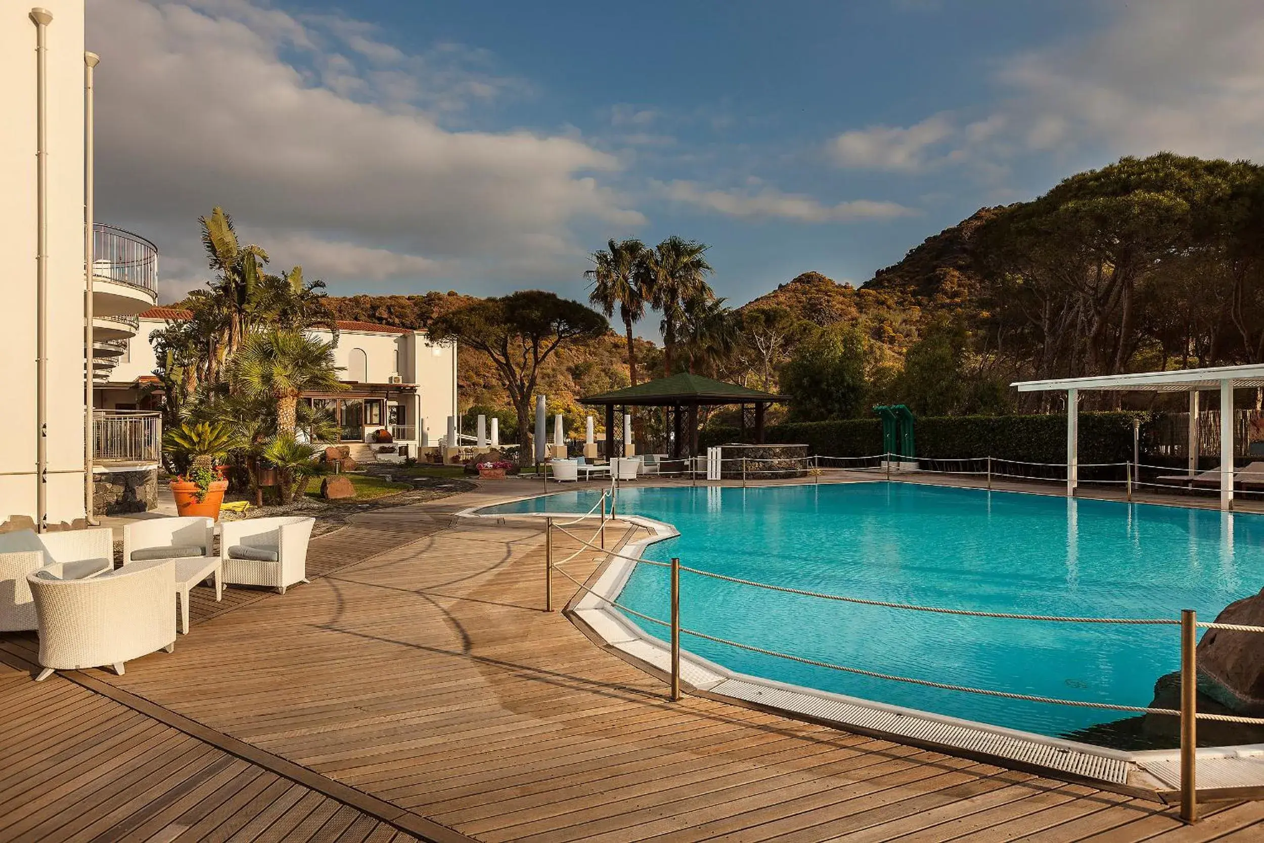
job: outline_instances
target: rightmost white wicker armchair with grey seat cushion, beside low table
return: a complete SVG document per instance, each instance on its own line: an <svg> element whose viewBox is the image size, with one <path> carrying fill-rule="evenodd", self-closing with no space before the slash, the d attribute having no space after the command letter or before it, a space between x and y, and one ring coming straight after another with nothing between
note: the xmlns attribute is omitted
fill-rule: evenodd
<svg viewBox="0 0 1264 843"><path fill-rule="evenodd" d="M281 594L307 581L307 540L315 518L277 517L225 521L220 525L224 581L264 585Z"/></svg>

